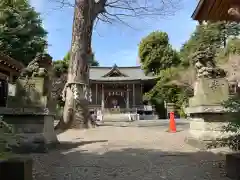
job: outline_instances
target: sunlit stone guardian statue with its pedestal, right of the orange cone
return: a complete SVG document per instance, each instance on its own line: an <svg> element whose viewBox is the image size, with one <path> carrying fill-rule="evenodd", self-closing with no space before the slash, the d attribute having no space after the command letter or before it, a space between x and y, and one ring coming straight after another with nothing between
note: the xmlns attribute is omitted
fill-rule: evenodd
<svg viewBox="0 0 240 180"><path fill-rule="evenodd" d="M189 99L186 114L190 129L186 142L198 148L228 136L223 132L228 113L222 103L229 97L229 86L224 70L216 67L209 49L198 51L193 60L197 71L194 96Z"/></svg>

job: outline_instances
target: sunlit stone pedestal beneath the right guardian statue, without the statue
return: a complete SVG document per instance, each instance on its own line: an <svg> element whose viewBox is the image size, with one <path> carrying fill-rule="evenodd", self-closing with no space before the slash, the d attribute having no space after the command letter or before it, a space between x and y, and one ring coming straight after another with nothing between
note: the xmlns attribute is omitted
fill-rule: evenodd
<svg viewBox="0 0 240 180"><path fill-rule="evenodd" d="M186 114L190 121L186 142L205 149L218 138L229 136L223 131L228 123L228 112L222 103L229 97L229 86L225 78L199 78L194 87L194 97L189 100Z"/></svg>

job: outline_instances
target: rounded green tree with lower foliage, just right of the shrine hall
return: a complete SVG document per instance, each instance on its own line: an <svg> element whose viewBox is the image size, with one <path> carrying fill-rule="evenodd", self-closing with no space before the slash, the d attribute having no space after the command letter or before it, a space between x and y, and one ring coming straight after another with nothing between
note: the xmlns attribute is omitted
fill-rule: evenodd
<svg viewBox="0 0 240 180"><path fill-rule="evenodd" d="M164 110L164 101L175 103L181 92L181 87L168 84L176 76L180 58L169 43L168 34L155 31L142 39L139 45L139 58L145 73L157 75L156 85L146 93L148 100L155 105L159 115Z"/></svg>

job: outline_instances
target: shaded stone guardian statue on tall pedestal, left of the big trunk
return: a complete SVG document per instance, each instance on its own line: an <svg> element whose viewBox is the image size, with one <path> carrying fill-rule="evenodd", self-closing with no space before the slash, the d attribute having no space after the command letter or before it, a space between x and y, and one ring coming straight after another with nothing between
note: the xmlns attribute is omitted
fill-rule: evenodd
<svg viewBox="0 0 240 180"><path fill-rule="evenodd" d="M16 94L0 109L3 120L21 136L17 152L44 152L58 143L54 132L54 103L51 98L52 58L39 53L21 72Z"/></svg>

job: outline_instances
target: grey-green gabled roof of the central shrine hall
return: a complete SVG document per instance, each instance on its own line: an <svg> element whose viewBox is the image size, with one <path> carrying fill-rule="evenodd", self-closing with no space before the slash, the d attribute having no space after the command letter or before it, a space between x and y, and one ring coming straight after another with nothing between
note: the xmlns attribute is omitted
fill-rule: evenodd
<svg viewBox="0 0 240 180"><path fill-rule="evenodd" d="M116 64L112 67L91 66L89 79L93 81L135 81L151 80L156 76L145 75L140 66L118 67Z"/></svg>

